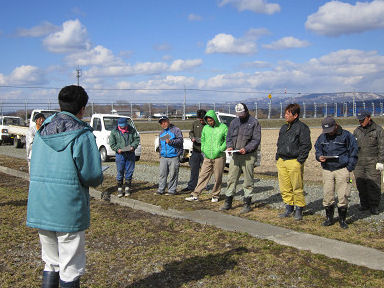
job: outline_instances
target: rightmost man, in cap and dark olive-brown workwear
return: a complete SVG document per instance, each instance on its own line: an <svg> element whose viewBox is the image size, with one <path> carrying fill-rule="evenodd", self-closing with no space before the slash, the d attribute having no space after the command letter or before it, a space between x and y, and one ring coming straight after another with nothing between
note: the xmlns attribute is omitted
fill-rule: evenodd
<svg viewBox="0 0 384 288"><path fill-rule="evenodd" d="M383 128L371 119L371 113L363 110L357 114L360 122L353 132L359 146L359 160L354 171L360 197L360 211L370 210L379 214L381 199L381 171L384 163Z"/></svg>

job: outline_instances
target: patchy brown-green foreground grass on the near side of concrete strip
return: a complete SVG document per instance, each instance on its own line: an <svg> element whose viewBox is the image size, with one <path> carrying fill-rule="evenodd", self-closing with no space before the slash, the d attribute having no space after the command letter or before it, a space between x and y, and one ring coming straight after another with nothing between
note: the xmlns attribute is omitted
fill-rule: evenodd
<svg viewBox="0 0 384 288"><path fill-rule="evenodd" d="M0 162L22 165L11 160ZM149 193L145 183L135 185ZM37 231L25 226L27 193L27 181L0 173L3 288L41 285ZM99 199L91 199L91 223L82 287L384 286L383 271Z"/></svg>

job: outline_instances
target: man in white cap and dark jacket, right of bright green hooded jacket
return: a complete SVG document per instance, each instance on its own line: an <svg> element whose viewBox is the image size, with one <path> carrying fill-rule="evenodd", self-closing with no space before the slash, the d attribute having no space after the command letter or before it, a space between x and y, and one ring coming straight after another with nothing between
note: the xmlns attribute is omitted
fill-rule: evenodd
<svg viewBox="0 0 384 288"><path fill-rule="evenodd" d="M225 204L221 210L232 208L233 196L236 193L236 185L239 181L241 172L244 175L244 206L241 213L251 211L252 192L253 192L253 170L257 160L257 148L261 141L261 126L255 117L251 116L247 105L238 103L235 106L236 119L229 124L227 134L227 151L239 152L232 153L232 160L229 163L229 174L227 191L225 193Z"/></svg>

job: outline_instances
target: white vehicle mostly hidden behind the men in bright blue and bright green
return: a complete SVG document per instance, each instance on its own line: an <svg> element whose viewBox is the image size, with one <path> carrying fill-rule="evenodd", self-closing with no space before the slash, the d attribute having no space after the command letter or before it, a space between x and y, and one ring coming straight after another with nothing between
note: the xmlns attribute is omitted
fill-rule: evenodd
<svg viewBox="0 0 384 288"><path fill-rule="evenodd" d="M217 119L219 120L220 123L224 123L229 127L229 124L233 119L236 118L236 115L234 114L228 114L228 113L222 113L222 112L216 112ZM255 163L256 166L260 166L260 161L261 161L261 152L260 152L260 146L257 149L257 161ZM193 151L193 142L189 137L184 137L184 143L183 143L183 154L180 157L180 162L185 163L189 161L189 158L192 155ZM155 138L155 151L159 152L159 137ZM226 153L226 166L229 166L229 163L231 162L232 156L228 153Z"/></svg>

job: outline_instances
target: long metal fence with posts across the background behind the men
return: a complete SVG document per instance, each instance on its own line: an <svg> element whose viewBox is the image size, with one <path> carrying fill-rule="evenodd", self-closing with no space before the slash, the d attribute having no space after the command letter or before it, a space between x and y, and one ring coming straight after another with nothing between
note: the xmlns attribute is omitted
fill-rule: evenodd
<svg viewBox="0 0 384 288"><path fill-rule="evenodd" d="M288 103L272 103L267 101L245 102L252 115L260 119L284 118L285 106ZM383 100L333 102L333 103L299 103L301 118L353 117L361 110L368 110L372 116L384 116ZM235 103L94 103L88 104L86 116L94 113L118 113L132 118L151 119L159 115L187 119L196 115L198 109L234 114ZM28 119L33 109L59 109L57 103L0 103L0 115L17 115Z"/></svg>

